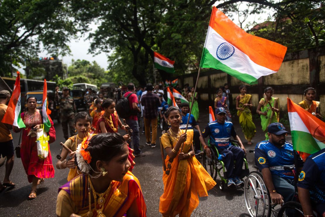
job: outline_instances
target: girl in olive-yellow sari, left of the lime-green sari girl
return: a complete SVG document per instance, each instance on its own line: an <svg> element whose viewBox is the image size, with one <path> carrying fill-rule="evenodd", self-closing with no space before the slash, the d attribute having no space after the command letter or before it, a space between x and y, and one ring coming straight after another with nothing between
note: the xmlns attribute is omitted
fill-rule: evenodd
<svg viewBox="0 0 325 217"><path fill-rule="evenodd" d="M248 145L252 145L252 138L256 133L256 127L252 119L252 95L246 94L245 85L239 87L240 95L236 97L236 109L239 117L239 124L244 133Z"/></svg>

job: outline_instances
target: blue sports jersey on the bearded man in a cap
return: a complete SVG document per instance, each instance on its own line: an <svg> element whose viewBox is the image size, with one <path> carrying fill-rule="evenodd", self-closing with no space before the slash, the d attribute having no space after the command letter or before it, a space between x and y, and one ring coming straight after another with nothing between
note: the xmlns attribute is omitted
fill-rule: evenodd
<svg viewBox="0 0 325 217"><path fill-rule="evenodd" d="M303 166L299 154L297 153L298 167ZM284 170L284 166L294 167L293 147L289 142L285 142L282 147L276 147L269 141L257 143L255 147L255 163L261 171L269 168L272 175L278 175L285 179L293 180L291 170Z"/></svg>

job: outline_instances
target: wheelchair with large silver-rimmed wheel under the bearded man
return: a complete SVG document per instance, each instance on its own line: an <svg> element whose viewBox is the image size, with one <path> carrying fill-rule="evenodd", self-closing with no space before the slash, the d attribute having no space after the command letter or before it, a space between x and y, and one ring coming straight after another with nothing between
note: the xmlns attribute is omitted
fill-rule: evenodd
<svg viewBox="0 0 325 217"><path fill-rule="evenodd" d="M254 153L254 150L249 150ZM252 217L287 217L287 216L304 216L302 206L297 201L288 201L280 209L276 209L278 204L272 204L270 193L264 183L263 176L258 172L258 167L254 165L256 171L248 174L244 184L244 198L246 208ZM284 166L285 170L294 170L294 167ZM295 189L296 189L295 176ZM299 201L296 189L295 197ZM289 213L288 210L290 210ZM294 214L293 214L294 213ZM314 216L317 213L314 211Z"/></svg>

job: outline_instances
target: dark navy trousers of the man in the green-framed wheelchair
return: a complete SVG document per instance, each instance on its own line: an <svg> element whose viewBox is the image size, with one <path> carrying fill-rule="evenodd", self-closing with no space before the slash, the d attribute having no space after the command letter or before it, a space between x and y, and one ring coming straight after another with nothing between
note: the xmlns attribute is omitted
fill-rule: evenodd
<svg viewBox="0 0 325 217"><path fill-rule="evenodd" d="M219 148L218 151L219 154L222 155L222 161L224 162L227 169L227 178L235 178L237 176L240 176L245 156L243 149L230 145L227 149ZM235 163L234 160L236 160Z"/></svg>

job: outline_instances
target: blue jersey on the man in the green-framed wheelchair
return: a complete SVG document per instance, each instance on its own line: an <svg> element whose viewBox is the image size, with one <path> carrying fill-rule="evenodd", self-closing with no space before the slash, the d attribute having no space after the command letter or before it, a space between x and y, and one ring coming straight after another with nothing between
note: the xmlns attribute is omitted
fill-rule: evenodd
<svg viewBox="0 0 325 217"><path fill-rule="evenodd" d="M231 144L230 137L237 136L233 124L230 121L225 121L221 124L218 121L209 123L203 130L202 136L210 136L210 144L215 145L218 149L228 148Z"/></svg>

